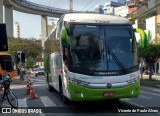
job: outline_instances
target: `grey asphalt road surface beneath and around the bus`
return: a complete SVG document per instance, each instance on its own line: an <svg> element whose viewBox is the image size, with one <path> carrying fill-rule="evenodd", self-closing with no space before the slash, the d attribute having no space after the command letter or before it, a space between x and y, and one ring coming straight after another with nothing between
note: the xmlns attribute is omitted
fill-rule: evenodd
<svg viewBox="0 0 160 116"><path fill-rule="evenodd" d="M40 110L38 113L27 114L1 114L9 116L127 116L127 115L146 115L146 116L158 116L160 115L160 89L141 87L141 94L138 98L125 98L120 102L115 101L102 101L102 102L71 102L69 105L65 105L60 98L58 92L49 92L48 86L43 76L34 77L31 76L31 81L35 88L37 95L36 99L29 99L29 95L26 95L26 83L13 82L11 89L16 94L21 109L37 108ZM5 101L2 108L10 107L7 101ZM150 112L149 112L150 111ZM141 112L141 113L140 113ZM143 113L142 113L143 112Z"/></svg>

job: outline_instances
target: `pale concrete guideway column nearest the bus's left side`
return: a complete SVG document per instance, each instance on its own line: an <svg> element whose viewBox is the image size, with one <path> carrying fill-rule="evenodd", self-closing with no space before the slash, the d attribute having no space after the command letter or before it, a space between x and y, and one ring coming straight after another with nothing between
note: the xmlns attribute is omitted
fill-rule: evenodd
<svg viewBox="0 0 160 116"><path fill-rule="evenodd" d="M42 37L42 49L44 51L44 40L48 36L48 22L47 16L41 15L41 37ZM44 52L42 52L42 58L44 58Z"/></svg>

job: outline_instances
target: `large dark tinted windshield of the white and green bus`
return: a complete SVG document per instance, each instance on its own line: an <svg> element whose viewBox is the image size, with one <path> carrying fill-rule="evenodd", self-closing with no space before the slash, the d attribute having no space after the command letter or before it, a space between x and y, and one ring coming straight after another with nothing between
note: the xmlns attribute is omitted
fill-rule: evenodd
<svg viewBox="0 0 160 116"><path fill-rule="evenodd" d="M117 71L138 65L131 25L69 26L69 56L73 68Z"/></svg>

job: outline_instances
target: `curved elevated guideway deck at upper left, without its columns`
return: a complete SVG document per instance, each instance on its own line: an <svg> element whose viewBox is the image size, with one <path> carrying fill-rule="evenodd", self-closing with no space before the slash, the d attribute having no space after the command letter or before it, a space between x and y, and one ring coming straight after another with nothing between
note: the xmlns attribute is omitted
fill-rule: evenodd
<svg viewBox="0 0 160 116"><path fill-rule="evenodd" d="M57 18L59 18L63 14L68 13L68 10L66 9L49 7L27 0L4 0L3 4L5 6L13 6L13 10L17 10L20 12Z"/></svg>

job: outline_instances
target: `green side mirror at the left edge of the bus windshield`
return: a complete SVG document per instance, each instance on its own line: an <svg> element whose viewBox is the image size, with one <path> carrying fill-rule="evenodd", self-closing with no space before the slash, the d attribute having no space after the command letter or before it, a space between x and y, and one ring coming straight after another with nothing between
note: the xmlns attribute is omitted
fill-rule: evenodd
<svg viewBox="0 0 160 116"><path fill-rule="evenodd" d="M67 48L67 45L68 45L68 32L67 32L67 29L63 26L62 29L61 29L61 44L62 44L62 47L63 48Z"/></svg>

